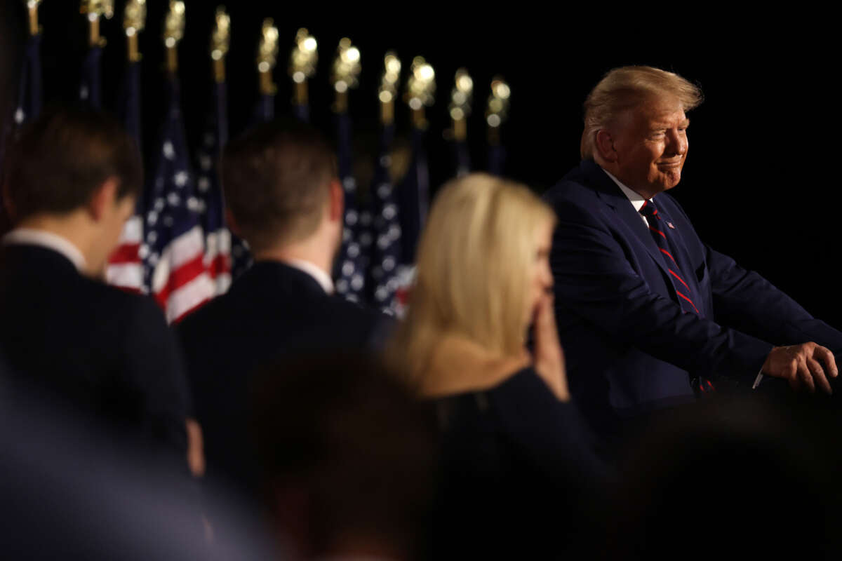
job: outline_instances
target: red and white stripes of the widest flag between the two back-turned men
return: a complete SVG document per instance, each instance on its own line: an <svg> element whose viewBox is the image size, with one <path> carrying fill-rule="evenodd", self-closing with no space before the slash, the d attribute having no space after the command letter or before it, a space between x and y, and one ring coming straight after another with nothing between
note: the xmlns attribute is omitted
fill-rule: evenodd
<svg viewBox="0 0 842 561"><path fill-rule="evenodd" d="M205 268L201 226L187 230L164 249L152 273L152 294L170 323L214 297L216 283Z"/></svg>

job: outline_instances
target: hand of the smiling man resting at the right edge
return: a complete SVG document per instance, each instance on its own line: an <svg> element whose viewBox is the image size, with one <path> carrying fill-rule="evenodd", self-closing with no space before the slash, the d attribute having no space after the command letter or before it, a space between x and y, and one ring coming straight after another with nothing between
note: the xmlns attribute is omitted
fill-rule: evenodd
<svg viewBox="0 0 842 561"><path fill-rule="evenodd" d="M825 368L822 368L822 362ZM825 373L831 378L839 376L834 353L813 342L773 347L763 363L763 373L785 378L792 389L800 389L803 384L811 394L816 391L816 385L825 393L833 394Z"/></svg>

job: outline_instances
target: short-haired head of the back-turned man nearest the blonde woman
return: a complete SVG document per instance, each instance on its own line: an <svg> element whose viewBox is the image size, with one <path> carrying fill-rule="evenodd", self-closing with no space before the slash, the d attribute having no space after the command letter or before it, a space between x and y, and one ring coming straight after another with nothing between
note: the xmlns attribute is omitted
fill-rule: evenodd
<svg viewBox="0 0 842 561"><path fill-rule="evenodd" d="M222 186L232 228L255 255L327 241L331 258L342 231L336 158L312 127L274 121L226 146Z"/></svg>

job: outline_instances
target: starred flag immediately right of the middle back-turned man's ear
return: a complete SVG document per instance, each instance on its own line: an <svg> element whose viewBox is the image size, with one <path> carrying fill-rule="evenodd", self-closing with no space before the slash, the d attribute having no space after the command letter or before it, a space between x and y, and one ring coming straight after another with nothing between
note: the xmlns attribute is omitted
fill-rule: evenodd
<svg viewBox="0 0 842 561"><path fill-rule="evenodd" d="M345 198L342 247L337 259L336 291L353 302L365 300L365 276L370 261L371 213L360 207L357 183L352 173L351 118L347 112L336 114L339 179ZM364 224L362 214L367 214ZM367 243L364 243L367 242Z"/></svg>

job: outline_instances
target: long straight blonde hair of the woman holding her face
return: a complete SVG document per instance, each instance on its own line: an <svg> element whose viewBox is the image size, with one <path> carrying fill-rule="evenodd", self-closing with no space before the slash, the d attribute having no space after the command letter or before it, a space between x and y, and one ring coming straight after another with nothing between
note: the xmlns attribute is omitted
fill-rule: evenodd
<svg viewBox="0 0 842 561"><path fill-rule="evenodd" d="M394 353L413 378L435 344L464 336L517 355L524 344L536 230L555 214L529 188L482 173L445 184L418 244L418 275Z"/></svg>

